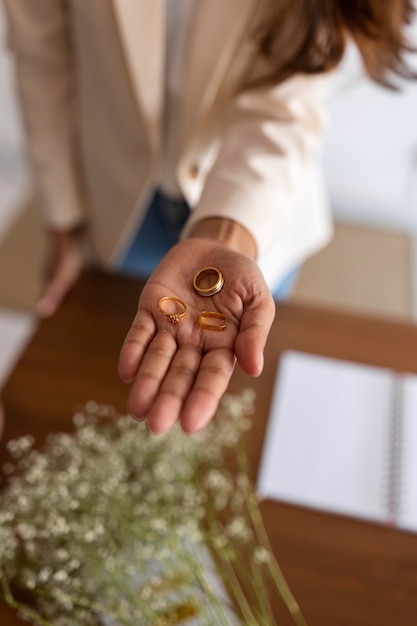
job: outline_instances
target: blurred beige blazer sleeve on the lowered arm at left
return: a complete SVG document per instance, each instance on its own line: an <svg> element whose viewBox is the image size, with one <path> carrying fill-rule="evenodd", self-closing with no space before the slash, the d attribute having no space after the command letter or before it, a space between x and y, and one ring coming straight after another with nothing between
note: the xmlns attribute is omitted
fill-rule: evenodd
<svg viewBox="0 0 417 626"><path fill-rule="evenodd" d="M4 0L8 46L41 209L51 228L84 221L76 82L66 0Z"/></svg>

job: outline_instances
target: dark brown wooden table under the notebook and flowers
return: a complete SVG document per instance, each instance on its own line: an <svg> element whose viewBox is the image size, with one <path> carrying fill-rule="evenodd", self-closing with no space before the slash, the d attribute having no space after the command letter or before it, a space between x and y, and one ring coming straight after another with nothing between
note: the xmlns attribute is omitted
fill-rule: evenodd
<svg viewBox="0 0 417 626"><path fill-rule="evenodd" d="M70 429L78 404L97 400L124 410L128 388L118 380L116 364L140 288L134 279L86 273L61 310L40 324L3 393L0 462L11 437L30 432L41 440ZM255 468L279 355L288 348L417 373L413 325L278 304L263 375L249 379L237 368L229 388L257 392L250 435ZM417 535L277 502L263 502L262 510L309 626L417 624ZM291 624L279 604L276 615L279 624ZM2 626L20 623L0 604Z"/></svg>

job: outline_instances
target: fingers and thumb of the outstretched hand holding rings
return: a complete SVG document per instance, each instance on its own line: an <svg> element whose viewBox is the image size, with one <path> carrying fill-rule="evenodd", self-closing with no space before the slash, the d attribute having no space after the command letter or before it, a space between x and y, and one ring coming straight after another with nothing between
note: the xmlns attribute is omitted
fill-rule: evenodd
<svg viewBox="0 0 417 626"><path fill-rule="evenodd" d="M170 324L158 328L152 314L140 309L119 363L122 379L133 380L128 402L131 415L147 419L154 433L169 430L178 420L189 434L204 428L227 389L236 357L248 374L261 372L274 312L272 299L262 306L248 304L236 337L231 322L220 335L205 329L196 333L184 320L178 328L181 332L175 333ZM220 339L222 345L218 345Z"/></svg>

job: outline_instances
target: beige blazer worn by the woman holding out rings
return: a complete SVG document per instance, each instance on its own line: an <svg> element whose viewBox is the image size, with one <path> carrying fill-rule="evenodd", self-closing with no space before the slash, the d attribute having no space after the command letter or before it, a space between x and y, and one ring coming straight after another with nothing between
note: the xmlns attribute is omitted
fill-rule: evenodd
<svg viewBox="0 0 417 626"><path fill-rule="evenodd" d="M252 29L269 0L196 0L178 184L193 208L254 235L271 284L331 231L316 171L328 76L236 95L265 70ZM164 0L5 0L28 149L48 224L88 220L117 265L158 185Z"/></svg>

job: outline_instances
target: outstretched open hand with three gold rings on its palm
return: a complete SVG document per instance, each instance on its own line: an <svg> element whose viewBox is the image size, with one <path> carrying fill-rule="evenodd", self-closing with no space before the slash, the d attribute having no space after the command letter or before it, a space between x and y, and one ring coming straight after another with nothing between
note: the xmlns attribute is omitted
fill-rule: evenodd
<svg viewBox="0 0 417 626"><path fill-rule="evenodd" d="M195 291L193 277L207 266L222 272L224 285L217 294L203 297ZM187 305L176 324L158 309L164 296ZM164 303L167 310L169 304ZM225 329L200 328L203 310L226 315ZM133 381L129 412L147 419L154 433L177 420L187 433L202 429L226 391L236 359L247 374L261 373L274 314L269 289L249 256L210 238L177 244L144 287L122 346L119 373L125 382Z"/></svg>

